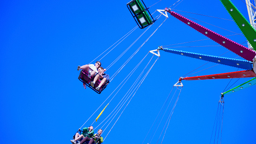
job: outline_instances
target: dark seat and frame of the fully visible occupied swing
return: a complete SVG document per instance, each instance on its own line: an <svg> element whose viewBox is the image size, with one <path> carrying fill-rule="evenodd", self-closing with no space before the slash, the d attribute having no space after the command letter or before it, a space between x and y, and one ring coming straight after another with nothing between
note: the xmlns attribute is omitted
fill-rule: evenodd
<svg viewBox="0 0 256 144"><path fill-rule="evenodd" d="M97 73L98 74L98 73ZM92 87L90 85L90 82L93 81L93 79L95 78L95 76L91 76L90 78L88 78L88 72L85 70L81 70L78 79L83 82L83 84L86 84L88 87L90 87L92 90L96 91L96 93L100 94L102 92L102 90L104 90L107 85L109 84L109 80L106 81L105 84L103 84L99 90L96 90L95 88L98 87L98 85L101 83L99 80L97 80L94 84L94 87Z"/></svg>

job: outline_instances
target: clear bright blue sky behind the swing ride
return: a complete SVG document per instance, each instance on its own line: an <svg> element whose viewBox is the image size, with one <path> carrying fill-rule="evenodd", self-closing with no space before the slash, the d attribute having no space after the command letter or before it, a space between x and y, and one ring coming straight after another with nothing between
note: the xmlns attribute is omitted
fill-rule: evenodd
<svg viewBox="0 0 256 144"><path fill-rule="evenodd" d="M146 6L152 6L158 1L144 0ZM70 144L70 139L77 129L89 119L149 50L157 49L158 46L207 39L169 15L169 18L117 74L102 94L98 95L89 88L84 90L83 84L77 79L79 75L77 66L90 63L136 26L126 6L128 2L129 0L2 0L0 2L0 139L3 143L19 140L19 144L35 142ZM149 11L154 13L156 9L170 7L175 2L176 0L162 0ZM242 0L232 2L248 19L244 2ZM219 0L183 0L174 9L232 20ZM235 42L242 44L246 41L244 36L229 36L234 34L230 31L241 33L233 21L180 11L175 12L223 28L196 21L223 36L228 36ZM159 13L155 12L153 17L157 15ZM112 76L164 20L164 17L159 18L106 73ZM101 60L102 66L104 68L109 66L145 30L136 29ZM228 51L223 47L188 46L218 46L218 44L205 40L174 45L173 47L184 48L173 49L217 56ZM142 144L173 84L179 77L206 63L163 51L160 51L160 55L160 59L112 130L110 131L120 113L111 123L108 122L102 127L103 138L110 131L104 144ZM232 52L223 56L237 57ZM94 127L114 110L151 57L152 54L147 55L138 70L109 103L99 120L93 124ZM154 56L150 66L156 59L157 57ZM242 58L238 57L238 59ZM197 71L214 65L209 63ZM219 65L192 76L234 71L237 71L237 68ZM210 143L220 93L229 82L231 85L236 80L184 81L163 144ZM250 78L239 79L231 88L248 80ZM222 143L254 144L256 142L255 90L254 86L224 97ZM114 94L83 127L92 124ZM173 92L170 96L173 96ZM155 125L151 129L151 133L156 131L152 144L155 144L159 137L161 141L163 134L160 133L166 118L165 115L157 131ZM143 144L149 143L150 140L148 136Z"/></svg>

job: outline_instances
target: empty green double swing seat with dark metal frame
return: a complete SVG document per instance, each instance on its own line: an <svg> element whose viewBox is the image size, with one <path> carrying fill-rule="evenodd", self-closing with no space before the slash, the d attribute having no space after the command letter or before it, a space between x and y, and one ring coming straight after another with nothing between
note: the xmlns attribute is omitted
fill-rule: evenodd
<svg viewBox="0 0 256 144"><path fill-rule="evenodd" d="M144 6L142 5L141 2L144 4L144 2L142 0L132 0L127 3L127 7L129 9L129 11L131 12L131 14L133 15L133 18L136 21L136 23L138 24L138 26L141 29L143 29L143 28L147 27L148 25L153 24L155 20L151 16L146 5L144 4L144 6L145 6L145 8L144 8Z"/></svg>

